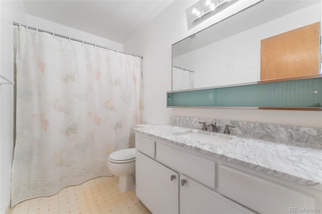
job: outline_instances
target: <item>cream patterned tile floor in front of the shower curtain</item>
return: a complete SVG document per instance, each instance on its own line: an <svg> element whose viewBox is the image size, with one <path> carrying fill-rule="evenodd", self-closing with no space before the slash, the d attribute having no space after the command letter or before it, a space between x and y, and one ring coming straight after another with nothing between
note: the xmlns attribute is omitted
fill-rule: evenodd
<svg viewBox="0 0 322 214"><path fill-rule="evenodd" d="M121 192L118 177L98 177L76 186L67 186L49 197L22 201L12 208L13 214L149 214L135 195L135 189Z"/></svg>

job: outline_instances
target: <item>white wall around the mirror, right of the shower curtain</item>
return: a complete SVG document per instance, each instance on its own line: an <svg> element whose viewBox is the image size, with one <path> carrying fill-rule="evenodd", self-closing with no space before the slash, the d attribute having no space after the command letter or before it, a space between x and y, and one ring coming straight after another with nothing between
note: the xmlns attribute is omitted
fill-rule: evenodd
<svg viewBox="0 0 322 214"><path fill-rule="evenodd" d="M196 1L175 1L143 30L124 43L124 49L143 55L143 97L145 123L167 124L170 115L236 120L290 126L322 128L322 112L167 109L166 91L171 90L172 44L210 26L256 1L238 1L223 12L188 30L185 10Z"/></svg>

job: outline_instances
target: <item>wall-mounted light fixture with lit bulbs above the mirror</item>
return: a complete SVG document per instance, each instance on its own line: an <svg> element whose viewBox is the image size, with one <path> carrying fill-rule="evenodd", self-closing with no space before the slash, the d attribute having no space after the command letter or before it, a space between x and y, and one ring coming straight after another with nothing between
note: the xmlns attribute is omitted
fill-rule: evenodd
<svg viewBox="0 0 322 214"><path fill-rule="evenodd" d="M202 0L191 6L187 11L188 23L194 23L200 18L210 16L224 10L238 0Z"/></svg>

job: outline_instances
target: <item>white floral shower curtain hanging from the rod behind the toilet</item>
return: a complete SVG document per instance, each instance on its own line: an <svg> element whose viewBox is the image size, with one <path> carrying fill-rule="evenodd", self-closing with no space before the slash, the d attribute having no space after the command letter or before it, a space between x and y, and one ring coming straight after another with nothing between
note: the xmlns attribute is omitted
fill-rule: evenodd
<svg viewBox="0 0 322 214"><path fill-rule="evenodd" d="M12 206L112 175L111 152L134 147L141 58L17 27Z"/></svg>

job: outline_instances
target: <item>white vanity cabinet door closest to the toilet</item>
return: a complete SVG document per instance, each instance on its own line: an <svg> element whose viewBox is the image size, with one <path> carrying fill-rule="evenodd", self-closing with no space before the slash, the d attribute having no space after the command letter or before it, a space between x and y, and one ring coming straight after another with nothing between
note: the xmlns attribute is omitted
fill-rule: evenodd
<svg viewBox="0 0 322 214"><path fill-rule="evenodd" d="M136 153L136 195L154 214L179 213L179 174Z"/></svg>

